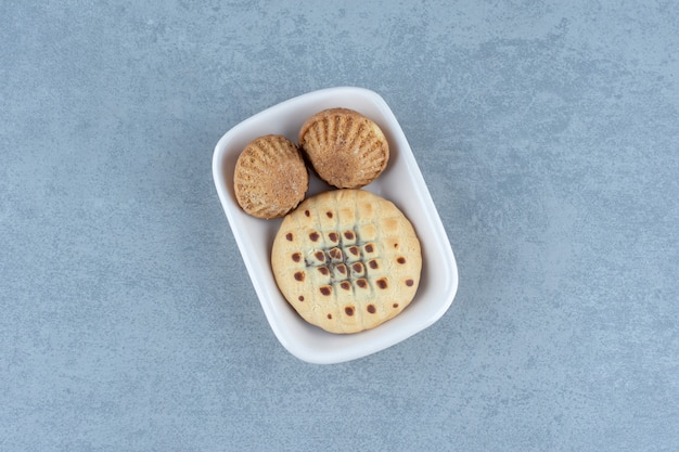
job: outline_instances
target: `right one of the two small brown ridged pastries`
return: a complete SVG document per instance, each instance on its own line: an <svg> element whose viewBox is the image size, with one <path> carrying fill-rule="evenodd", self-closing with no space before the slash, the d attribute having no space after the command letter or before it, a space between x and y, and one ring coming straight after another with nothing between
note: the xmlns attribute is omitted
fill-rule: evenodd
<svg viewBox="0 0 679 452"><path fill-rule="evenodd" d="M299 146L316 173L337 189L359 189L384 171L389 145L370 118L348 108L329 108L308 118Z"/></svg>

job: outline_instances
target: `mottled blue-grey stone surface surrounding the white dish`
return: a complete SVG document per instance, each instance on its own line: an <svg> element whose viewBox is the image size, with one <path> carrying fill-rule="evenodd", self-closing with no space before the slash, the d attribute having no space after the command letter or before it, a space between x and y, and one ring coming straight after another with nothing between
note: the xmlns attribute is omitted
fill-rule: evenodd
<svg viewBox="0 0 679 452"><path fill-rule="evenodd" d="M679 5L562 3L2 1L0 450L679 450ZM333 86L398 117L460 287L312 365L210 159Z"/></svg>

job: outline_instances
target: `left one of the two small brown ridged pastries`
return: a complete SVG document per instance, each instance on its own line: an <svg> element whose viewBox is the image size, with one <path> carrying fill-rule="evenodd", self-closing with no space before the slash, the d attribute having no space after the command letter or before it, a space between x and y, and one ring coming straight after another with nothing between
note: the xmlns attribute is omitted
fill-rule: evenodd
<svg viewBox="0 0 679 452"><path fill-rule="evenodd" d="M272 219L297 207L309 188L309 173L295 143L268 134L248 143L233 173L235 198L246 214Z"/></svg>

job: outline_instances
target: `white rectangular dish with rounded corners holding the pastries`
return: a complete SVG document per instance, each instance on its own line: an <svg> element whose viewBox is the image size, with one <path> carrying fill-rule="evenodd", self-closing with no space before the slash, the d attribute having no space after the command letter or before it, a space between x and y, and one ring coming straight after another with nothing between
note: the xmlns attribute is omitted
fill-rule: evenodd
<svg viewBox="0 0 679 452"><path fill-rule="evenodd" d="M374 120L389 142L384 172L364 190L392 201L412 222L422 245L422 275L412 302L396 318L361 333L328 333L305 322L279 292L270 264L273 237L282 220L246 215L233 191L235 162L257 137L279 133L297 142L303 122L331 107L346 107ZM421 332L448 310L458 289L458 268L440 218L412 150L396 117L375 92L353 87L329 88L293 98L258 113L229 130L213 155L213 177L255 292L271 330L303 361L331 364L361 358ZM307 196L331 190L310 173Z"/></svg>

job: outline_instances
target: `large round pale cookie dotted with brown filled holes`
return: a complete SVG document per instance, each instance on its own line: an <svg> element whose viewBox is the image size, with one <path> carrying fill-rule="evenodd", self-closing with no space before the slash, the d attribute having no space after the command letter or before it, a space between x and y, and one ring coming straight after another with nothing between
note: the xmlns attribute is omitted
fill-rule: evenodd
<svg viewBox="0 0 679 452"><path fill-rule="evenodd" d="M389 201L363 190L305 199L274 237L271 267L287 302L331 333L358 333L400 313L420 284L420 241Z"/></svg>

